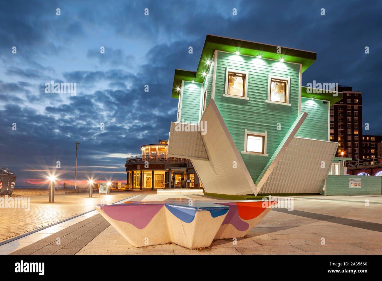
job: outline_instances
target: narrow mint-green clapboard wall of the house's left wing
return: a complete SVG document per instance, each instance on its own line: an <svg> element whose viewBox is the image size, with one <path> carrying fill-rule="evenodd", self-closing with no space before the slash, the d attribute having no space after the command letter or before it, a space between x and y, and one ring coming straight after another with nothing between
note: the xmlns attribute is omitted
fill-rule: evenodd
<svg viewBox="0 0 382 281"><path fill-rule="evenodd" d="M180 122L199 122L201 87L201 83L184 81L181 94Z"/></svg>

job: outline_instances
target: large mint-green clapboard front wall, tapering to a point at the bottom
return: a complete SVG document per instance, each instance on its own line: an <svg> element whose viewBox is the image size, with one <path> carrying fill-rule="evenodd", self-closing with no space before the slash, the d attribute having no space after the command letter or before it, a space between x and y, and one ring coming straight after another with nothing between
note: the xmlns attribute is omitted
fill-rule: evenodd
<svg viewBox="0 0 382 281"><path fill-rule="evenodd" d="M248 70L247 96L249 100L223 97L226 68ZM268 75L290 76L290 104L271 104L268 99ZM244 131L267 131L267 156L241 154L252 179L257 178L267 165L286 133L298 117L299 65L275 60L217 52L214 100L239 152L244 150ZM277 123L281 129L277 130Z"/></svg>

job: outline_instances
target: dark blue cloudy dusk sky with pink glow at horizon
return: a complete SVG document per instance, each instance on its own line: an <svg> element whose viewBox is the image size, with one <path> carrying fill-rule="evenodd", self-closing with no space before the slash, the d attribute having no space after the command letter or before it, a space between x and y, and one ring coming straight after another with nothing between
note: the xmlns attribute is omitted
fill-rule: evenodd
<svg viewBox="0 0 382 281"><path fill-rule="evenodd" d="M303 85L339 81L362 91L364 133L382 133L381 8L380 1L2 1L0 166L21 186L45 180L60 161L59 178L71 182L78 141L79 180L126 180L125 157L155 143L157 130L168 137L178 105L174 70L196 70L206 34L317 52ZM45 93L51 80L76 83L76 96Z"/></svg>

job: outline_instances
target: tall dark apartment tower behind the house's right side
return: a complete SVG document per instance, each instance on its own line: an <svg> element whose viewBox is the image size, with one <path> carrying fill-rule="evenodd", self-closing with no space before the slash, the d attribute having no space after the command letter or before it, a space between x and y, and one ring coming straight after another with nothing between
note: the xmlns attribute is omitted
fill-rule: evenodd
<svg viewBox="0 0 382 281"><path fill-rule="evenodd" d="M337 157L362 158L362 92L338 86L342 100L330 106L330 141L338 141Z"/></svg>

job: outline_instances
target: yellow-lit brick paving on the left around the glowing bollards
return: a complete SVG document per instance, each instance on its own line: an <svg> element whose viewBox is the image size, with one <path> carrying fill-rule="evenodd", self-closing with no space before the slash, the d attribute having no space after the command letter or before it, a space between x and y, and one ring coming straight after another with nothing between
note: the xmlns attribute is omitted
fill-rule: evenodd
<svg viewBox="0 0 382 281"><path fill-rule="evenodd" d="M89 193L74 193L55 195L54 203L49 203L49 195L31 196L30 210L0 208L0 242L94 210L94 205L97 204L110 204L136 194L154 193L156 194L155 190L112 191L110 195L93 193L92 198ZM12 197L8 197L8 200L10 198Z"/></svg>

